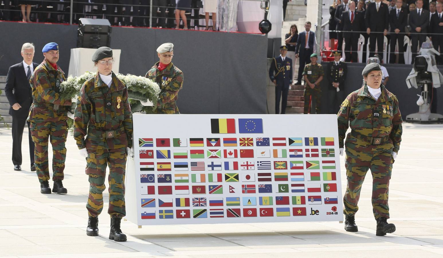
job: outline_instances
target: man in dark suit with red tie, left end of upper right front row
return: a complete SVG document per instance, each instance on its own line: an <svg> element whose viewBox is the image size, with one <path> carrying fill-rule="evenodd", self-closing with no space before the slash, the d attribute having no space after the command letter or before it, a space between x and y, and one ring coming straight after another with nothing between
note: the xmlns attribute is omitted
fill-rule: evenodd
<svg viewBox="0 0 443 258"><path fill-rule="evenodd" d="M363 23L363 14L355 11L355 2L351 1L349 3L349 11L343 12L342 15L346 62L352 60L352 62L357 63L358 39L360 38L360 31L363 27Z"/></svg>

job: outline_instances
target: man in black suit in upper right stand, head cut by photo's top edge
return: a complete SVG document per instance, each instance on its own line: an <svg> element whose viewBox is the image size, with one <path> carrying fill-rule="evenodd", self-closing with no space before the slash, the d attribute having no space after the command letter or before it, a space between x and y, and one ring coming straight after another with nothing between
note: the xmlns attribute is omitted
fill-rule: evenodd
<svg viewBox="0 0 443 258"><path fill-rule="evenodd" d="M383 53L384 36L388 33L389 11L388 5L376 0L368 5L365 12L366 33L369 35L369 56L375 53L375 42L377 41L377 53ZM372 33L371 33L372 32Z"/></svg>

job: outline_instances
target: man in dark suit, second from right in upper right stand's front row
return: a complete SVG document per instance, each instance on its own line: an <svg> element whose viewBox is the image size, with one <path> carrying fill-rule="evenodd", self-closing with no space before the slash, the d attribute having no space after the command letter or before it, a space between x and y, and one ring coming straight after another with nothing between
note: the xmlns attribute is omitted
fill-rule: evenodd
<svg viewBox="0 0 443 258"><path fill-rule="evenodd" d="M416 1L417 9L409 14L412 41L412 63L417 56L417 47L426 41L427 27L429 25L429 11L423 8L423 0Z"/></svg>

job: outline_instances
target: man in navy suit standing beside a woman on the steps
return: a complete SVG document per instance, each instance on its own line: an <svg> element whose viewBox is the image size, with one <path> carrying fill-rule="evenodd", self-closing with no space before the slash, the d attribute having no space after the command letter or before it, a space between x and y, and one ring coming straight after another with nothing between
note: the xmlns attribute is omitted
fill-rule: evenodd
<svg viewBox="0 0 443 258"><path fill-rule="evenodd" d="M298 85L302 84L304 66L311 63L311 55L314 53L314 44L317 44L315 33L314 31L311 31L311 22L307 21L305 23L305 31L300 32L299 38L297 39L297 45L295 46L295 57L299 59L299 75L297 77Z"/></svg>

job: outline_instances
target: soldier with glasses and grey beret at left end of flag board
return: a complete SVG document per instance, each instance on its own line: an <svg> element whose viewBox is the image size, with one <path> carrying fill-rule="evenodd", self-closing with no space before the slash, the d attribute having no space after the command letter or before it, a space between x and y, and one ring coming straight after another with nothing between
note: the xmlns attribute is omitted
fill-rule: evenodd
<svg viewBox="0 0 443 258"><path fill-rule="evenodd" d="M97 66L97 74L83 84L74 114L74 138L80 154L86 158L86 174L90 184L86 204L89 215L86 235L98 235L98 215L103 210L102 193L108 165L109 239L126 241L126 235L120 230L120 222L126 215L126 158L132 155L132 112L128 90L112 72L112 49L98 48L92 61Z"/></svg>

